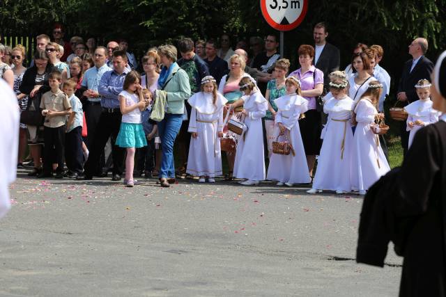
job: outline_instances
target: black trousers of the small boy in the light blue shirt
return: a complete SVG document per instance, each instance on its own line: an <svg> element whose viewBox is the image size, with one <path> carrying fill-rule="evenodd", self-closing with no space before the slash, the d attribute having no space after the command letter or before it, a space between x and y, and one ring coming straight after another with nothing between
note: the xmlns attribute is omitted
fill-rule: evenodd
<svg viewBox="0 0 446 297"><path fill-rule="evenodd" d="M84 154L82 152L82 126L75 127L65 136L65 162L68 170L77 174L84 170Z"/></svg>

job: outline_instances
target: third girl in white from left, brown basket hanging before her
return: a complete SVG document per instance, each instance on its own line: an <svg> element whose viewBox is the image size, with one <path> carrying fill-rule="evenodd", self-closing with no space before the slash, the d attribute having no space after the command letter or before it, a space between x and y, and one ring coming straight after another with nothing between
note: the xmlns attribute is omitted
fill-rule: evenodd
<svg viewBox="0 0 446 297"><path fill-rule="evenodd" d="M311 182L307 158L299 129L299 117L308 110L308 101L300 96L300 82L295 77L285 81L286 95L275 99L275 139L286 136L294 154L271 154L268 179L277 181L277 186L293 186ZM277 139L279 139L277 138Z"/></svg>

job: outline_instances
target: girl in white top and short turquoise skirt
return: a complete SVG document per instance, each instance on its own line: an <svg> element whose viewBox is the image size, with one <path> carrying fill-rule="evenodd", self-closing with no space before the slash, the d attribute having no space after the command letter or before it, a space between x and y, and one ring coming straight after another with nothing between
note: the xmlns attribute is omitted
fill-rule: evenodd
<svg viewBox="0 0 446 297"><path fill-rule="evenodd" d="M118 97L123 117L116 145L127 148L124 184L129 187L135 184L133 179L135 148L147 145L146 135L141 124L141 111L147 108L150 99L144 99L140 83L141 77L138 72L130 71L125 76L123 91L119 93Z"/></svg>

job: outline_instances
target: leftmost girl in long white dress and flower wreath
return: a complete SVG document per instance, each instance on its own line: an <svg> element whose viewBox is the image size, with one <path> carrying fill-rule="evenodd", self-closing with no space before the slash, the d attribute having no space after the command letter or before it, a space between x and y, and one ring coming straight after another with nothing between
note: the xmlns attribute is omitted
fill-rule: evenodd
<svg viewBox="0 0 446 297"><path fill-rule="evenodd" d="M215 182L222 175L223 107L228 100L217 93L217 81L211 76L201 80L201 92L187 99L190 112L189 131L192 134L186 172L199 176L199 182Z"/></svg>

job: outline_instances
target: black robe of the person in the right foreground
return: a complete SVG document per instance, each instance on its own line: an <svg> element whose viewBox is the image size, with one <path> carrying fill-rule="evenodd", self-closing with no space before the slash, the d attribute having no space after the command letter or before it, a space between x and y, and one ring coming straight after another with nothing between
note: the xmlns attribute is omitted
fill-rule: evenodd
<svg viewBox="0 0 446 297"><path fill-rule="evenodd" d="M387 195L380 192L385 207L372 209L364 200L357 260L379 265L364 247L387 251L387 239L392 240L404 257L399 296L446 296L446 122L417 131L403 166L392 173L380 180L388 189Z"/></svg>

